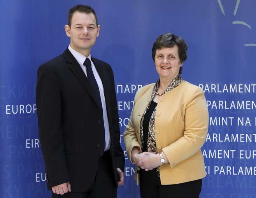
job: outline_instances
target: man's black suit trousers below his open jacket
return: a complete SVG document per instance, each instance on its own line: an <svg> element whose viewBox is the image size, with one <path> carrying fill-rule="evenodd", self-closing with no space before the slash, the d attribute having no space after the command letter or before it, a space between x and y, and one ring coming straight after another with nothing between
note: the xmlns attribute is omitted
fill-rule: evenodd
<svg viewBox="0 0 256 198"><path fill-rule="evenodd" d="M104 152L99 160L96 177L91 187L85 192L71 192L64 195L53 193L52 198L116 198L116 181L113 174L109 151Z"/></svg>

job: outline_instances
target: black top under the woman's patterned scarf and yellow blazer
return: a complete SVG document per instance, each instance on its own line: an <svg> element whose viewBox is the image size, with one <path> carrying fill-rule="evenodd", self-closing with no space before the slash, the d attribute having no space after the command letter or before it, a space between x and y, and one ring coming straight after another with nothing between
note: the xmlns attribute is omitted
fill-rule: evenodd
<svg viewBox="0 0 256 198"><path fill-rule="evenodd" d="M149 105L149 108L144 116L143 120L143 140L144 140L144 145L143 145L143 150L142 152L147 152L147 133L149 132L149 121L150 118L153 114L154 109L156 108L157 103L154 102L153 100L151 101L151 104Z"/></svg>

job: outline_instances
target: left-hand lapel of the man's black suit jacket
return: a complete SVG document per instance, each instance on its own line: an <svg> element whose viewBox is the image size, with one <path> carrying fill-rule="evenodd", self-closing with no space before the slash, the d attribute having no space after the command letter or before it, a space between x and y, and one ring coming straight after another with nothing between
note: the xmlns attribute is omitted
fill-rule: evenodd
<svg viewBox="0 0 256 198"><path fill-rule="evenodd" d="M63 52L63 56L65 57L66 62L70 63L69 67L74 72L75 76L79 79L79 81L83 84L84 88L88 91L89 95L93 98L94 102L96 102L95 95L93 93L93 89L91 88L91 84L84 74L84 71L78 64L75 57L72 55L72 53L68 50L68 48Z"/></svg>

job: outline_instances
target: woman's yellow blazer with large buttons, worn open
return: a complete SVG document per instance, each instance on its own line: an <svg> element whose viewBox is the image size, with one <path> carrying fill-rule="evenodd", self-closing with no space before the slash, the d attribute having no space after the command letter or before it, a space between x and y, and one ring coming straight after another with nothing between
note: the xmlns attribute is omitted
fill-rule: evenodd
<svg viewBox="0 0 256 198"><path fill-rule="evenodd" d="M140 120L153 88L154 84L140 88L134 98L130 121L123 134L130 159L134 146L142 152ZM156 147L158 153L164 152L169 160L169 164L160 166L162 185L184 183L206 176L201 147L207 136L208 123L208 109L200 87L183 80L179 86L160 97L154 126ZM138 167L134 178L139 184L137 170Z"/></svg>

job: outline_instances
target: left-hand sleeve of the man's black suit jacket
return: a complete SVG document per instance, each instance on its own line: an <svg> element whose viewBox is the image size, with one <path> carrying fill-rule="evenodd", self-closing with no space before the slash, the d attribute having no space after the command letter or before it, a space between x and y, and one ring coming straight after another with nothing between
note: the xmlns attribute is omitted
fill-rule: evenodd
<svg viewBox="0 0 256 198"><path fill-rule="evenodd" d="M39 139L45 162L48 189L68 182L61 129L61 87L50 65L37 72L36 105Z"/></svg>

